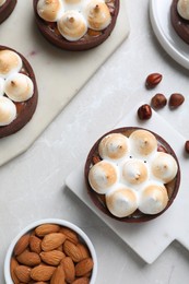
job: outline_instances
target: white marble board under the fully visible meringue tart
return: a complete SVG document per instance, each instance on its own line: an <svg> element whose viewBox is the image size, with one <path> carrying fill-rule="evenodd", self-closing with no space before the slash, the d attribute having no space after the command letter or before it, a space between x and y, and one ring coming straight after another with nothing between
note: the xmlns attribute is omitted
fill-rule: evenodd
<svg viewBox="0 0 189 284"><path fill-rule="evenodd" d="M85 189L84 161L68 176L66 184L79 199L91 208L145 262L152 263L174 240L178 240L189 249L189 214L187 213L189 201L187 178L189 159L184 153L185 139L155 111L153 111L150 120L139 121L135 115L138 107L123 117L115 128L127 126L144 127L162 135L173 146L181 169L180 189L173 205L163 215L153 221L143 224L127 224L115 221L96 209Z"/></svg>

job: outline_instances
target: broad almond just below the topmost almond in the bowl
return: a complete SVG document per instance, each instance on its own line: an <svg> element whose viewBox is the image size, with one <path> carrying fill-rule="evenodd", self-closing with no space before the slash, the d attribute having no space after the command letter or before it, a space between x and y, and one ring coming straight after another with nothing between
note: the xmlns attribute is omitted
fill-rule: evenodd
<svg viewBox="0 0 189 284"><path fill-rule="evenodd" d="M60 247L64 240L66 240L66 236L61 233L48 234L42 240L42 249L44 251L54 250Z"/></svg>

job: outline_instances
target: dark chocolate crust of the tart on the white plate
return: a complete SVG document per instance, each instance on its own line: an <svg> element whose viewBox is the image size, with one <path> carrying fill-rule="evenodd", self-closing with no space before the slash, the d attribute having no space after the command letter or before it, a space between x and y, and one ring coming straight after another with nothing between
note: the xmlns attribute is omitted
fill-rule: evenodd
<svg viewBox="0 0 189 284"><path fill-rule="evenodd" d="M170 22L177 35L189 44L189 21L182 19L177 12L178 0L173 0L170 7Z"/></svg>

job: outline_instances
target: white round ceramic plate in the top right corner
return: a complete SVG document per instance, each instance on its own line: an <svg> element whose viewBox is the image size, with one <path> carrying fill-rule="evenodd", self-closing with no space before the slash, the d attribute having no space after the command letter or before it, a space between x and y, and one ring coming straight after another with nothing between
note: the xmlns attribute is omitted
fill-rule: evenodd
<svg viewBox="0 0 189 284"><path fill-rule="evenodd" d="M150 19L153 31L167 54L189 69L189 46L176 34L170 24L172 0L150 0Z"/></svg>

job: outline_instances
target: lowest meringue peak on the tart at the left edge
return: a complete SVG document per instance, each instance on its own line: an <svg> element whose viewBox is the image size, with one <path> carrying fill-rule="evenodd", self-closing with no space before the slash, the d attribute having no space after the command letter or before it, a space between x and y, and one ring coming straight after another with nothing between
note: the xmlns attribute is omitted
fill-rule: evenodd
<svg viewBox="0 0 189 284"><path fill-rule="evenodd" d="M0 96L0 127L10 125L16 117L16 107L11 99Z"/></svg>

